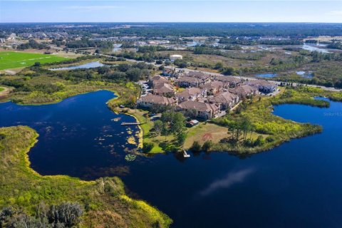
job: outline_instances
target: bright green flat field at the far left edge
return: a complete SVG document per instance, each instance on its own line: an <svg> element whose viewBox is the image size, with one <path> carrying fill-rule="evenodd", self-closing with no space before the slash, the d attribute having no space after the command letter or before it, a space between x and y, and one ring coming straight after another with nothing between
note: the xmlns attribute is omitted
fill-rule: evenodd
<svg viewBox="0 0 342 228"><path fill-rule="evenodd" d="M32 66L36 62L53 63L67 59L68 58L61 56L45 55L41 53L3 51L0 52L0 70Z"/></svg>

